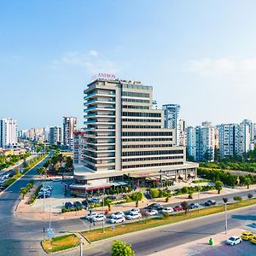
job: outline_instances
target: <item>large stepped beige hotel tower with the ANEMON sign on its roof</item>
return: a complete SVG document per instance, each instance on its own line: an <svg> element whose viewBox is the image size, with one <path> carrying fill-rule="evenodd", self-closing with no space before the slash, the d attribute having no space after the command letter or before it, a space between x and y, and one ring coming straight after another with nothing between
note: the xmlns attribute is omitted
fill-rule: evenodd
<svg viewBox="0 0 256 256"><path fill-rule="evenodd" d="M175 130L163 128L163 110L153 109L152 86L96 79L84 90L84 107L84 163L74 167L73 191L195 177L198 164L186 162Z"/></svg>

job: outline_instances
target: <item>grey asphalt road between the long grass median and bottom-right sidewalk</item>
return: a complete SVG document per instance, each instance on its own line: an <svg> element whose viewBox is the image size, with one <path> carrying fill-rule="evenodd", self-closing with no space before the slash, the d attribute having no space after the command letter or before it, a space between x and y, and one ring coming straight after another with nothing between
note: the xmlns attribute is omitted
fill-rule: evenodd
<svg viewBox="0 0 256 256"><path fill-rule="evenodd" d="M256 214L256 206L247 209L237 209L228 214L229 229L241 227L245 221L234 218L237 215L250 215L252 218ZM172 217L171 217L172 218ZM172 224L168 227L162 226L152 230L144 230L137 233L127 234L119 237L119 240L132 244L137 255L148 255L155 251L161 251L169 247L175 247L185 242L195 241L205 236L210 236L224 231L224 214L215 214ZM116 238L115 238L116 239ZM111 240L113 241L114 238ZM100 241L95 243L94 247L87 249L88 255L96 255L96 253L110 253L111 241ZM86 254L87 255L87 254ZM101 255L101 254L99 254ZM104 255L104 254L102 254Z"/></svg>

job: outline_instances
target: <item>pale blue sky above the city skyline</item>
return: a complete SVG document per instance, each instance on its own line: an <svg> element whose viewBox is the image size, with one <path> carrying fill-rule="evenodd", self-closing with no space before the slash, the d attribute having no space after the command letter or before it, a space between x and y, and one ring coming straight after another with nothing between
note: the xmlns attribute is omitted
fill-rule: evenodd
<svg viewBox="0 0 256 256"><path fill-rule="evenodd" d="M82 125L98 73L154 86L189 125L253 119L255 1L0 1L0 116Z"/></svg>

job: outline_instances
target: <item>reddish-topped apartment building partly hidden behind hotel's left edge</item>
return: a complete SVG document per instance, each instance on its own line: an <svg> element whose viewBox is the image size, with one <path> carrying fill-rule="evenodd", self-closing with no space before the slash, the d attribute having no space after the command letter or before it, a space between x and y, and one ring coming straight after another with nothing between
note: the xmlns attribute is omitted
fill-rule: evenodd
<svg viewBox="0 0 256 256"><path fill-rule="evenodd" d="M73 132L73 164L81 165L84 160L84 146L86 143L85 131Z"/></svg>

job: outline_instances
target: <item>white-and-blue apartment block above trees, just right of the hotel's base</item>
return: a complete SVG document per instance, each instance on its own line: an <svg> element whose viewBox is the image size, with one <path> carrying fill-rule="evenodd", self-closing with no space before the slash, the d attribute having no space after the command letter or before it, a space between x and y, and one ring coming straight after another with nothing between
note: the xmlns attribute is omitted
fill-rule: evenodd
<svg viewBox="0 0 256 256"><path fill-rule="evenodd" d="M215 131L212 123L203 122L201 126L187 128L187 149L194 160L214 160Z"/></svg>

